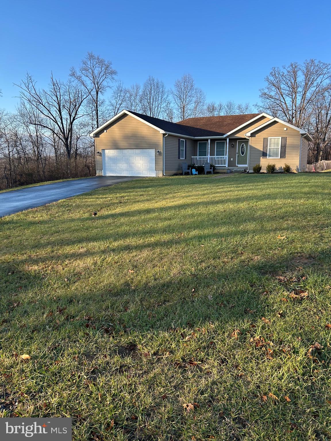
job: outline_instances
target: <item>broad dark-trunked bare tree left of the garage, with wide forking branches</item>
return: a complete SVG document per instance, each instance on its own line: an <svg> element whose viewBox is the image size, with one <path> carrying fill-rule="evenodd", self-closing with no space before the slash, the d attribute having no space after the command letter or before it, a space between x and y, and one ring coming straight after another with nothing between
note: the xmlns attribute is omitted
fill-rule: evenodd
<svg viewBox="0 0 331 441"><path fill-rule="evenodd" d="M42 120L29 120L30 124L38 124L59 138L70 161L72 139L75 122L84 116L80 113L83 102L89 95L71 80L60 82L51 76L48 89L37 89L36 82L31 75L21 82L20 97L40 114Z"/></svg>

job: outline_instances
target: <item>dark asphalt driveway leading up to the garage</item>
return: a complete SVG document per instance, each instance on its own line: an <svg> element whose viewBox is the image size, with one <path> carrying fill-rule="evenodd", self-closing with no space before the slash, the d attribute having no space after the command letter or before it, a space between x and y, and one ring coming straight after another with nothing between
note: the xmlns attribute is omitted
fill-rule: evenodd
<svg viewBox="0 0 331 441"><path fill-rule="evenodd" d="M93 176L91 178L73 179L71 181L54 182L0 193L0 217L18 213L29 208L71 198L76 194L86 193L99 187L120 182L131 181L136 177L128 176Z"/></svg>

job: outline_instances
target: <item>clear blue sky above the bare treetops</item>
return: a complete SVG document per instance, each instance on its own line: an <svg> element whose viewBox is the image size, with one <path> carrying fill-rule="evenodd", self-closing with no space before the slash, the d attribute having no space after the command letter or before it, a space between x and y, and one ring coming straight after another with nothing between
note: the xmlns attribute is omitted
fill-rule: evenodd
<svg viewBox="0 0 331 441"><path fill-rule="evenodd" d="M113 61L126 86L166 86L190 73L208 101L259 101L273 66L331 62L328 1L7 1L0 18L0 108L28 71L45 86L87 51Z"/></svg>

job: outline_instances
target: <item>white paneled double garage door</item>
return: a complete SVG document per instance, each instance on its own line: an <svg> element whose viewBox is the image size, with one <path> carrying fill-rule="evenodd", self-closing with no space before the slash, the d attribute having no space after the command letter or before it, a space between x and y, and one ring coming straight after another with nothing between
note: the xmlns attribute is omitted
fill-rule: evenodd
<svg viewBox="0 0 331 441"><path fill-rule="evenodd" d="M156 176L154 149L102 150L104 176Z"/></svg>

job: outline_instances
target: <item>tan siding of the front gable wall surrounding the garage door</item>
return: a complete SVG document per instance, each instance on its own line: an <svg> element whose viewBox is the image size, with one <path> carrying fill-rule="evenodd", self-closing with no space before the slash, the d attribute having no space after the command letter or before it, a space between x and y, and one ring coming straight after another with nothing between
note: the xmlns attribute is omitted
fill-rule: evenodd
<svg viewBox="0 0 331 441"><path fill-rule="evenodd" d="M95 138L96 151L102 149L155 149L155 170L163 170L162 134L131 115L120 116ZM161 155L156 152L160 150ZM97 156L97 173L102 170L102 157Z"/></svg>

